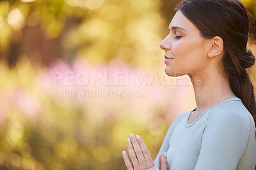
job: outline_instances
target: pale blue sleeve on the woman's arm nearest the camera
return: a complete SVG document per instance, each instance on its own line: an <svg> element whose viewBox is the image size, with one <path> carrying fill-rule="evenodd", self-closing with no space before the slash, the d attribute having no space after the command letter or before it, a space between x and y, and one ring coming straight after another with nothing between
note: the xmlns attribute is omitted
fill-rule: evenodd
<svg viewBox="0 0 256 170"><path fill-rule="evenodd" d="M234 170L246 150L250 120L244 112L221 111L209 117L195 170Z"/></svg>

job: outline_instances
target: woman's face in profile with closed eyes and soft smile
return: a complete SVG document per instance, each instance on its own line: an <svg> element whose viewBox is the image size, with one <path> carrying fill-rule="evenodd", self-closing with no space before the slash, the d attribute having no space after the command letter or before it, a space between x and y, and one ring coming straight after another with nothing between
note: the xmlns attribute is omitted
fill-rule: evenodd
<svg viewBox="0 0 256 170"><path fill-rule="evenodd" d="M177 11L169 25L170 33L161 42L165 51L165 72L169 76L202 73L207 65L206 39L181 11Z"/></svg>

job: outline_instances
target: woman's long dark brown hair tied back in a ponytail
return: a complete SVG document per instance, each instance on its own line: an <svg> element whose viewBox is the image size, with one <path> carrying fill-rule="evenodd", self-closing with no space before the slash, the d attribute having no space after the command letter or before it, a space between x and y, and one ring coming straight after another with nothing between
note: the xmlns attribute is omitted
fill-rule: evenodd
<svg viewBox="0 0 256 170"><path fill-rule="evenodd" d="M247 69L255 63L255 56L246 49L252 15L238 0L184 0L175 11L181 11L204 38L220 36L224 42L221 59L223 73L230 87L252 114L256 123L256 104L253 84Z"/></svg>

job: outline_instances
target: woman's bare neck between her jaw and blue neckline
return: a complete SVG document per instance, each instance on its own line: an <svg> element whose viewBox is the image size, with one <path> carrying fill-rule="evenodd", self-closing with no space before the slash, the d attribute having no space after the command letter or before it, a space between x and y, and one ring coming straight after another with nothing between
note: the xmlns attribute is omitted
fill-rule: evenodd
<svg viewBox="0 0 256 170"><path fill-rule="evenodd" d="M218 71L203 74L189 75L193 83L196 101L196 113L200 114L231 97L236 97L232 92L229 81L221 76ZM200 81L198 81L200 80Z"/></svg>

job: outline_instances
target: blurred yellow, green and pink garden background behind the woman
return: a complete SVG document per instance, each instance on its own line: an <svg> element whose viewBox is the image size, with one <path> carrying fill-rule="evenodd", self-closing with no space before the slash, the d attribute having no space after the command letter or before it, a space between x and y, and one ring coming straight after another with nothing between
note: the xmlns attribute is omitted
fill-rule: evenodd
<svg viewBox="0 0 256 170"><path fill-rule="evenodd" d="M156 157L195 107L159 48L177 3L0 1L0 169L125 169L130 132ZM255 16L256 1L243 3Z"/></svg>

